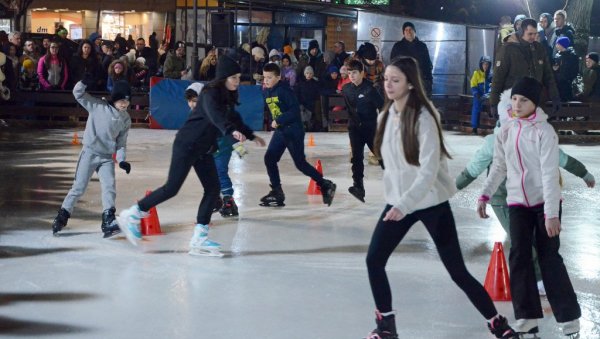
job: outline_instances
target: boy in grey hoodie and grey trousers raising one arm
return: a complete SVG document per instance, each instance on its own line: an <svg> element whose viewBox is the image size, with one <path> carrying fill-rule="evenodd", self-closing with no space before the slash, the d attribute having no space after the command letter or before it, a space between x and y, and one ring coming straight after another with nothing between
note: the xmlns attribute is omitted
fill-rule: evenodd
<svg viewBox="0 0 600 339"><path fill-rule="evenodd" d="M67 225L73 207L85 193L94 171L98 173L102 187L104 211L101 229L104 238L120 233L115 220L115 164L112 155L117 153L119 167L129 174L131 165L125 161L125 144L131 127L131 118L127 113L131 89L127 81L117 81L110 101L107 101L85 92L87 85L93 81L92 77L86 74L73 88L73 96L89 112L89 116L83 134L83 149L75 171L75 181L52 224L52 233L55 236Z"/></svg>

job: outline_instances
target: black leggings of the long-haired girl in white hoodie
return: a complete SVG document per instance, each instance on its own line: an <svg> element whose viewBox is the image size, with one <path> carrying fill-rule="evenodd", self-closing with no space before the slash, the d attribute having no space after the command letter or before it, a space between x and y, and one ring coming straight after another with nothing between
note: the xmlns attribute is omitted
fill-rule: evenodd
<svg viewBox="0 0 600 339"><path fill-rule="evenodd" d="M383 221L383 217L391 208L392 206L387 205L383 210L367 254L369 281L377 309L382 313L392 311L392 291L385 273L385 265L411 226L417 221L422 221L452 280L467 294L481 315L486 319L494 317L498 312L492 299L465 266L450 204L446 201L416 211L400 221Z"/></svg>

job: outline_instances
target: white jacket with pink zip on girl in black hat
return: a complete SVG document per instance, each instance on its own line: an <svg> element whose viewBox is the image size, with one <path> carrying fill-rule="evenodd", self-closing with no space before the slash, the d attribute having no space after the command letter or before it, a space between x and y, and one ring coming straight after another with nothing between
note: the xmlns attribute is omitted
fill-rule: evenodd
<svg viewBox="0 0 600 339"><path fill-rule="evenodd" d="M504 104L503 104L504 102ZM508 115L501 121L494 144L494 160L481 200L487 201L506 180L509 206L544 205L546 218L558 217L560 208L558 136L541 108L527 118L512 117L510 104L500 109ZM501 114L502 116L502 114Z"/></svg>

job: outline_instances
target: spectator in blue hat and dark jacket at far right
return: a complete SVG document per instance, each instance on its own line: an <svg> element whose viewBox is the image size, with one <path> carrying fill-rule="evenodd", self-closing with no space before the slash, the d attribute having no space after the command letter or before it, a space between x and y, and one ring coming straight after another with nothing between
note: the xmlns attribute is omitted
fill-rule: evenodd
<svg viewBox="0 0 600 339"><path fill-rule="evenodd" d="M566 36L556 41L558 53L554 57L554 74L556 75L556 86L561 101L573 100L573 80L579 73L579 58L571 47L571 41Z"/></svg>

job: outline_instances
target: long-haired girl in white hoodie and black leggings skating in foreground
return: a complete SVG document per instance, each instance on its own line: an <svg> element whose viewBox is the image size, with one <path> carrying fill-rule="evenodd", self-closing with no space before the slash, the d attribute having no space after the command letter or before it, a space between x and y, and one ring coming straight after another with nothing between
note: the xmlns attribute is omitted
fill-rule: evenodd
<svg viewBox="0 0 600 339"><path fill-rule="evenodd" d="M385 70L384 90L391 100L380 115L375 153L383 159L383 210L367 254L377 328L368 339L398 338L386 263L417 221L433 238L452 280L488 319L497 338L517 338L499 315L483 286L467 271L448 199L456 191L448 174L439 114L427 99L415 59L399 57Z"/></svg>

